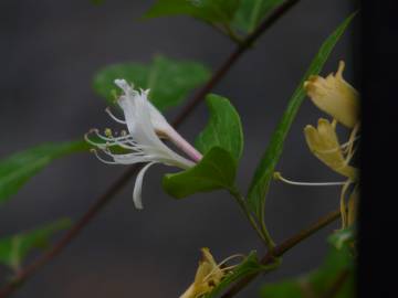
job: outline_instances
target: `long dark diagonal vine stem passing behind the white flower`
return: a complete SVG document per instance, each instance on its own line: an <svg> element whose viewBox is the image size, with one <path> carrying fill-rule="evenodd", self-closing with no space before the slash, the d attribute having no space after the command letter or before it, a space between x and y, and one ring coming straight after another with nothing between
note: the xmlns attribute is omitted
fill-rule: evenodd
<svg viewBox="0 0 398 298"><path fill-rule="evenodd" d="M203 97L223 78L232 65L240 58L240 56L251 47L251 45L270 29L282 15L285 14L300 0L286 0L277 7L269 17L252 32L242 43L231 53L231 55L221 64L221 66L213 73L212 77L207 84L200 88L193 96L192 100L181 110L177 118L172 121L174 127L179 127L185 119L195 110ZM88 211L74 224L74 226L66 232L66 234L54 244L54 246L46 253L41 255L32 264L21 269L11 283L0 289L0 298L6 298L11 295L18 287L31 277L39 268L53 259L60 254L81 232L82 230L98 214L98 212L127 184L130 178L140 169L140 167L130 167L127 169L107 191L101 195Z"/></svg>

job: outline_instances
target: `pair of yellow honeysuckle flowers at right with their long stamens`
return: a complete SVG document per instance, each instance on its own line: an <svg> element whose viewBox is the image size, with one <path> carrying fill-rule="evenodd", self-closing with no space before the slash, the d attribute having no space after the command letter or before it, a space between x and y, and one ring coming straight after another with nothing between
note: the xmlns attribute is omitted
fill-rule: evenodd
<svg viewBox="0 0 398 298"><path fill-rule="evenodd" d="M337 73L329 74L326 78L311 76L304 88L312 102L334 119L329 123L321 118L317 127L307 125L304 136L310 150L322 162L335 172L346 177L345 181L338 182L297 182L285 179L280 172L274 172L276 180L293 185L306 187L332 187L342 185L339 196L343 228L355 221L356 202L358 201L358 169L352 166L353 157L358 148L356 140L359 139L359 96L358 93L343 78L345 64L341 61ZM341 123L350 129L349 139L341 145L336 134L336 125ZM350 191L354 185L354 191ZM346 196L348 206L346 204Z"/></svg>

